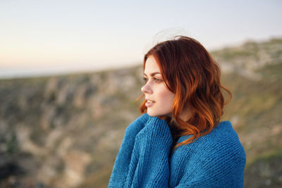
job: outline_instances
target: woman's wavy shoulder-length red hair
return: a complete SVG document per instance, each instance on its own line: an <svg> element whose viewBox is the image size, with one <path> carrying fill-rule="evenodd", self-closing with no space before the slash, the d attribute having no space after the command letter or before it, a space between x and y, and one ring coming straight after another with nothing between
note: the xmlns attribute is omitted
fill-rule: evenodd
<svg viewBox="0 0 282 188"><path fill-rule="evenodd" d="M219 65L209 52L195 39L176 36L172 40L157 44L145 54L143 70L149 56L155 58L166 87L175 94L171 111L180 130L178 137L192 134L192 137L176 144L173 149L194 142L198 137L211 132L219 123L223 106L231 100L232 95L221 85ZM230 96L227 103L223 90ZM180 112L185 108L190 111L190 117L186 121L179 118ZM145 101L140 106L140 112L147 112ZM171 120L165 116L160 118Z"/></svg>

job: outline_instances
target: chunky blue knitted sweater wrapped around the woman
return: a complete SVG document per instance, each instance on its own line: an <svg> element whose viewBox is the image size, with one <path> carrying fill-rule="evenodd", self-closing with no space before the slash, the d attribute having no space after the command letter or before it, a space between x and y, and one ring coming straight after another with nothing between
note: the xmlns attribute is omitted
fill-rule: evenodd
<svg viewBox="0 0 282 188"><path fill-rule="evenodd" d="M141 115L125 130L108 187L243 187L245 151L229 121L170 155L172 144L165 120Z"/></svg>

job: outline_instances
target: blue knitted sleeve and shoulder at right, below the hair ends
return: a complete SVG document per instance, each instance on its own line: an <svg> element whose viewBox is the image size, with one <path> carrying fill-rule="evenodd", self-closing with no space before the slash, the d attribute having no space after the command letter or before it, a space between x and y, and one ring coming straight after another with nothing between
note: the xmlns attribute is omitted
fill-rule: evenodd
<svg viewBox="0 0 282 188"><path fill-rule="evenodd" d="M192 144L180 146L174 157L174 171L185 160L177 188L244 185L245 151L231 125L225 124Z"/></svg>

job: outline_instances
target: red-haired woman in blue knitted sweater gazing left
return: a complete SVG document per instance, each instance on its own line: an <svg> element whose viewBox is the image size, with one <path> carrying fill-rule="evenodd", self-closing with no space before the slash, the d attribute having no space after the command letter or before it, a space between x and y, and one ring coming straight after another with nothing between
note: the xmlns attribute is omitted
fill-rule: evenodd
<svg viewBox="0 0 282 188"><path fill-rule="evenodd" d="M219 66L190 37L145 54L142 115L125 130L109 187L243 187L245 151L229 121Z"/></svg>

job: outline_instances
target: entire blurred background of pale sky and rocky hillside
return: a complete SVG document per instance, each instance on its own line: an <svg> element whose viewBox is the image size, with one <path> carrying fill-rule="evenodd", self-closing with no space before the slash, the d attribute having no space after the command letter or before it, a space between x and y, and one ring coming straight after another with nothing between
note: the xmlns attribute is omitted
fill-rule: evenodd
<svg viewBox="0 0 282 188"><path fill-rule="evenodd" d="M107 187L142 58L187 35L221 66L245 187L282 187L282 1L0 1L0 187Z"/></svg>

